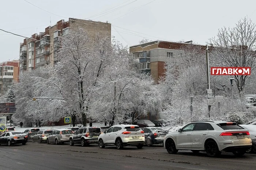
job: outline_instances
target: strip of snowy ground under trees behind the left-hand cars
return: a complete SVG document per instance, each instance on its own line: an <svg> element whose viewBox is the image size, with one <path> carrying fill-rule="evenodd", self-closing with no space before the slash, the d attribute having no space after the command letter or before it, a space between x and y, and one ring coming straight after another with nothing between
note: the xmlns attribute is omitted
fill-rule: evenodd
<svg viewBox="0 0 256 170"><path fill-rule="evenodd" d="M82 125L82 124L77 124L77 126L80 126L80 125ZM87 123L87 126L89 126L89 123ZM108 125L105 126L104 123L93 123L93 126L99 126L101 128L109 127ZM69 125L64 125L64 126L53 126L53 130L55 130L55 129L64 129L66 127L70 127L70 124ZM15 129L15 131L24 132L26 129L30 129L30 128L31 127L18 127L18 126L15 126L14 129ZM52 130L52 126L41 126L41 127L34 127L34 128Z"/></svg>

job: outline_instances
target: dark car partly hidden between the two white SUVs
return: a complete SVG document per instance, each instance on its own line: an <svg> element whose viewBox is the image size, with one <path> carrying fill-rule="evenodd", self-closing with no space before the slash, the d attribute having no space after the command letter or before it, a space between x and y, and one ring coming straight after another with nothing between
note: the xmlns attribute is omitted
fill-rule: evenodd
<svg viewBox="0 0 256 170"><path fill-rule="evenodd" d="M145 145L151 146L154 144L163 144L163 139L169 131L163 130L161 127L146 127L142 128L145 135Z"/></svg>

